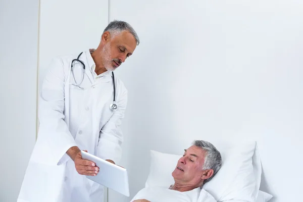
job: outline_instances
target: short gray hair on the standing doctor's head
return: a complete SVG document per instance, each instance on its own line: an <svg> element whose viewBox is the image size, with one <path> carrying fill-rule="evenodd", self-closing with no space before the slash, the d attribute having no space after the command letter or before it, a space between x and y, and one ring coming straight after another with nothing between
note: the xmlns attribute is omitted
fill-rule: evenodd
<svg viewBox="0 0 303 202"><path fill-rule="evenodd" d="M137 33L132 28L132 26L130 26L130 24L128 24L127 22L114 20L114 21L110 22L110 24L105 28L103 33L106 31L109 31L113 35L121 33L123 31L128 31L136 39L137 45L139 45L139 43L140 43Z"/></svg>

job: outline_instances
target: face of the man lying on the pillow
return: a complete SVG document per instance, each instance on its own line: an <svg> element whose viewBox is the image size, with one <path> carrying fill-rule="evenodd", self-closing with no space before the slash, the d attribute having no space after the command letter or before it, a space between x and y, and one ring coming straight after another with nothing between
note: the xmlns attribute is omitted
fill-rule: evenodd
<svg viewBox="0 0 303 202"><path fill-rule="evenodd" d="M179 159L172 173L175 182L189 186L200 184L203 176L205 155L205 150L194 145L185 149L183 157Z"/></svg>

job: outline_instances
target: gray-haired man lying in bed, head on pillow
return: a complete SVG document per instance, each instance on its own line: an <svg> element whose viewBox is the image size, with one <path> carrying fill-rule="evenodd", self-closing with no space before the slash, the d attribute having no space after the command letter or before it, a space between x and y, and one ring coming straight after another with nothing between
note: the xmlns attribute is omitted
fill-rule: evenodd
<svg viewBox="0 0 303 202"><path fill-rule="evenodd" d="M201 189L220 170L222 159L210 142L195 140L184 149L184 155L172 172L175 183L170 187L147 187L131 200L134 202L212 202L216 201Z"/></svg>

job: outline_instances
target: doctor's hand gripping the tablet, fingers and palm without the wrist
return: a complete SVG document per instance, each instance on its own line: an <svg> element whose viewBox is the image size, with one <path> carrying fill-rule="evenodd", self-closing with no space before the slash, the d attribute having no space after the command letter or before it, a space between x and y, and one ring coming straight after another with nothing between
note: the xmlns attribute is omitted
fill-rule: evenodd
<svg viewBox="0 0 303 202"><path fill-rule="evenodd" d="M87 152L87 150L84 150ZM83 160L81 151L79 151L74 159L75 167L80 175L96 176L99 172L99 168L95 166L95 163L87 160Z"/></svg>

